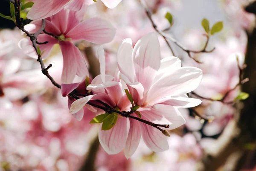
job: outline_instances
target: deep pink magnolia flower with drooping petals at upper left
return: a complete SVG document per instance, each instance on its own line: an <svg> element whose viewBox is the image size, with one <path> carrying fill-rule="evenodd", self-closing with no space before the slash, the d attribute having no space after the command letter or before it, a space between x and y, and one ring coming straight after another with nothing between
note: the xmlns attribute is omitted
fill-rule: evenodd
<svg viewBox="0 0 256 171"><path fill-rule="evenodd" d="M38 1L37 1L38 2ZM47 35L41 34L38 36L38 42L48 41L46 44L38 45L42 54L42 59L46 59L54 44L58 43L61 47L63 55L63 70L61 75L61 90L62 95L68 94L67 84L72 83L75 75L84 77L89 75L87 66L81 55L79 49L73 44L72 41L86 40L92 43L107 43L113 39L115 29L106 20L99 17L90 18L80 23L83 15L79 12L70 10L61 10L52 17L46 19L46 31L58 36L58 39ZM41 27L42 21L34 21L25 26L25 29L30 33L37 32ZM71 41L72 40L72 41ZM27 38L19 42L19 46L26 54L33 58L38 58L35 49L30 40Z"/></svg>

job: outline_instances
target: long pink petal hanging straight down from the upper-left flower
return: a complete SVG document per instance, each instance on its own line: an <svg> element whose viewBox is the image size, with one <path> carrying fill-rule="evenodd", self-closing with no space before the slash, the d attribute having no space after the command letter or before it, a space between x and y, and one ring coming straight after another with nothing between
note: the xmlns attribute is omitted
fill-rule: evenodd
<svg viewBox="0 0 256 171"><path fill-rule="evenodd" d="M81 77L89 75L84 58L79 49L70 41L59 41L59 45L61 46L61 52L63 55L61 83L72 83L77 73L79 73L79 76ZM78 72L79 70L84 70L84 74Z"/></svg>

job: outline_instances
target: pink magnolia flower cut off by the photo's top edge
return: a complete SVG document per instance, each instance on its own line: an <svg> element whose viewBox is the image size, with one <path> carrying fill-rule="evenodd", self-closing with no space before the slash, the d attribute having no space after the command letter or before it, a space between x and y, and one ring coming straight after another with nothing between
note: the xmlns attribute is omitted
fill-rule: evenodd
<svg viewBox="0 0 256 171"><path fill-rule="evenodd" d="M61 9L79 11L84 5L90 5L94 0L36 0L27 14L30 20L40 20L50 17ZM102 0L108 8L115 8L122 0Z"/></svg>

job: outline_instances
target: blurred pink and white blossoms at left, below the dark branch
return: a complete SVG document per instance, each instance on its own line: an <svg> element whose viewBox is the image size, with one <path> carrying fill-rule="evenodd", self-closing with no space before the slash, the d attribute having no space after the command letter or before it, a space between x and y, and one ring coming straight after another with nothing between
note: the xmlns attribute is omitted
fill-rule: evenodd
<svg viewBox="0 0 256 171"><path fill-rule="evenodd" d="M68 113L67 99L18 48L21 38L16 29L0 32L0 170L77 170L94 114L79 122ZM55 72L60 79L61 70Z"/></svg>

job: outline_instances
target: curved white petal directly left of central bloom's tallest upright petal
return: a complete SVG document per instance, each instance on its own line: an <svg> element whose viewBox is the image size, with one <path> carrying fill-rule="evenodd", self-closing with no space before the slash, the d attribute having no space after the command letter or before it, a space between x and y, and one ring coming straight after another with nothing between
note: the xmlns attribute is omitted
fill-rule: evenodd
<svg viewBox="0 0 256 171"><path fill-rule="evenodd" d="M132 43L131 39L124 39L117 51L117 64L118 69L122 74L128 77L128 79L134 81L134 66L131 60L132 55Z"/></svg>

